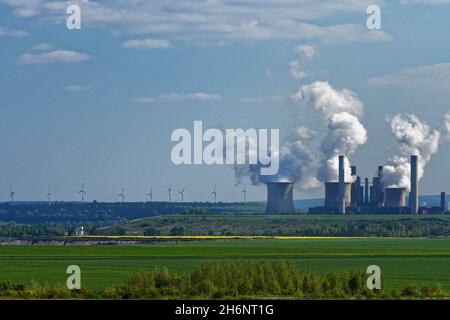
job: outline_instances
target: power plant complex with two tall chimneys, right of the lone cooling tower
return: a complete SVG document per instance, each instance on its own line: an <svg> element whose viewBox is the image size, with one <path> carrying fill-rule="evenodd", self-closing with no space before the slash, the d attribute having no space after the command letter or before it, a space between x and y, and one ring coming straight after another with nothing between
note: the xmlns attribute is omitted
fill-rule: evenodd
<svg viewBox="0 0 450 320"><path fill-rule="evenodd" d="M447 211L447 198L445 192L441 193L440 206L431 208L419 207L419 179L418 156L410 158L411 192L409 202L406 202L407 189L397 186L383 185L383 166L379 166L376 176L364 178L357 175L356 166L351 167L351 181L345 181L344 156L339 156L338 182L325 182L325 200L323 207L313 207L310 213L427 213ZM273 211L276 211L273 209Z"/></svg>

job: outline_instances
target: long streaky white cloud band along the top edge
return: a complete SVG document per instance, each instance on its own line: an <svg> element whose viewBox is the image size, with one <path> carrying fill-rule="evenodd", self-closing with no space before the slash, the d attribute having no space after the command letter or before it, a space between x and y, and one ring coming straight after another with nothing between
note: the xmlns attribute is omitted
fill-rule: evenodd
<svg viewBox="0 0 450 320"><path fill-rule="evenodd" d="M0 0L21 17L61 21L65 2L48 0ZM306 39L334 41L388 41L383 31L368 31L360 24L320 25L315 19L364 13L382 0L266 0L266 1L129 1L81 3L83 24L105 26L168 40L222 43L230 40Z"/></svg>

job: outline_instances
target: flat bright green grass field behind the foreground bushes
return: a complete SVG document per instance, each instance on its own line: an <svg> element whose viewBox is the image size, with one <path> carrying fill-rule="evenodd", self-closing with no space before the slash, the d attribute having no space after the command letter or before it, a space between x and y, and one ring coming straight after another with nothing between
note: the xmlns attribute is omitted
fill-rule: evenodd
<svg viewBox="0 0 450 320"><path fill-rule="evenodd" d="M203 261L290 260L314 272L381 267L385 289L437 282L450 290L450 239L264 239L171 242L117 246L0 246L0 281L64 284L68 265L82 270L82 283L104 288L131 273L167 266L183 272Z"/></svg>

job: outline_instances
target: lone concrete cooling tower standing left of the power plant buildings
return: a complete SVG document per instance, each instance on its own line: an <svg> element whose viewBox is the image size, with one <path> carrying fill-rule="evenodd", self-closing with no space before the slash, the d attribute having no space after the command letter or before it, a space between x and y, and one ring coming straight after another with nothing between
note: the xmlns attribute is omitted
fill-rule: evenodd
<svg viewBox="0 0 450 320"><path fill-rule="evenodd" d="M292 182L267 183L266 213L295 213L293 189Z"/></svg>

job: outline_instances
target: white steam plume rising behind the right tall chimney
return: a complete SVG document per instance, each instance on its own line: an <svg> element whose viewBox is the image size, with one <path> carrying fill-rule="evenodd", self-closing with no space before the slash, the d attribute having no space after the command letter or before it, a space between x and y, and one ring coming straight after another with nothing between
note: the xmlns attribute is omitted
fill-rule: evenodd
<svg viewBox="0 0 450 320"><path fill-rule="evenodd" d="M381 182L385 188L411 189L410 156L418 156L418 179L424 173L431 156L438 151L440 133L431 129L412 114L397 114L387 119L392 133L400 143L400 154L388 160L383 167Z"/></svg>

